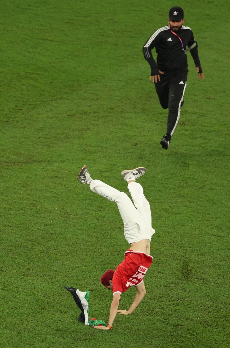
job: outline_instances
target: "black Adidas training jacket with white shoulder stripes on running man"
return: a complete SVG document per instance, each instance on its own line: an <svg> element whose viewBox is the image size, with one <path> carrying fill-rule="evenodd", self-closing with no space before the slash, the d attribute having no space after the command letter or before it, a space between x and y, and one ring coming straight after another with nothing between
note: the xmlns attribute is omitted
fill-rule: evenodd
<svg viewBox="0 0 230 348"><path fill-rule="evenodd" d="M183 26L177 33L185 48L191 47L195 39L192 30L188 26ZM151 50L156 47L157 63L154 61ZM170 31L170 27L164 26L156 30L143 46L143 53L146 61L151 67L151 76L158 75L159 70L168 74L175 74L181 71L188 71L187 54L182 49L180 39ZM199 67L202 73L198 55L198 46L191 49L191 55L195 66Z"/></svg>

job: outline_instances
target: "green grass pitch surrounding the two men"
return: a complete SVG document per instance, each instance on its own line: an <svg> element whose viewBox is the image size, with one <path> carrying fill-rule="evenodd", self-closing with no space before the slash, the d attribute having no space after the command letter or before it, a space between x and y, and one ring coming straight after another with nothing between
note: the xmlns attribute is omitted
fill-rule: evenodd
<svg viewBox="0 0 230 348"><path fill-rule="evenodd" d="M189 54L165 151L167 110L142 46L175 5L205 79ZM0 347L229 347L228 13L222 0L1 3ZM107 322L112 294L100 277L128 248L116 204L77 181L84 164L126 193L121 170L148 169L139 180L156 229L147 294L112 331L79 323L64 289L89 290L90 316Z"/></svg>

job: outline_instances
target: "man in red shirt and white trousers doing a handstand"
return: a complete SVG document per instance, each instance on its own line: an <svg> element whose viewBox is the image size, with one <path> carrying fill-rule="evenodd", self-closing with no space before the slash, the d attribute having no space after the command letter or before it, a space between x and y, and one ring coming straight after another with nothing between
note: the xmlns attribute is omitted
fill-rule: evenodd
<svg viewBox="0 0 230 348"><path fill-rule="evenodd" d="M90 190L98 193L112 202L116 202L124 223L124 233L130 248L125 252L125 259L116 268L108 270L101 277L101 283L113 291L109 322L106 326L96 326L97 329L112 329L116 314L131 314L143 299L146 291L143 278L152 263L150 256L151 237L155 233L152 228L151 210L145 198L142 186L136 179L146 172L146 168L138 167L121 172L128 182L128 190L133 199L100 180L92 180L86 166L78 174L78 180L89 184ZM136 288L135 299L128 310L118 310L120 296L131 286Z"/></svg>

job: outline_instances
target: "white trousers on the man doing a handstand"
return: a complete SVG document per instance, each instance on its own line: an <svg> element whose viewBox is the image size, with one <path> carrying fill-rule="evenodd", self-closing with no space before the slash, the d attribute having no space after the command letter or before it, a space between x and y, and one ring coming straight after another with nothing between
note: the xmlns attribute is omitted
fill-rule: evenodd
<svg viewBox="0 0 230 348"><path fill-rule="evenodd" d="M134 204L125 192L120 192L100 180L92 180L90 190L117 203L124 223L125 238L129 244L140 242L142 239L151 241L155 230L152 228L150 205L139 183L128 184Z"/></svg>

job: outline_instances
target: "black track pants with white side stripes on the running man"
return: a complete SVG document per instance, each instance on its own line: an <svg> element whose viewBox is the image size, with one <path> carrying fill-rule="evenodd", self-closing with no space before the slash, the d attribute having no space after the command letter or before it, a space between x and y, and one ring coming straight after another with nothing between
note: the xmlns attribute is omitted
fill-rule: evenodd
<svg viewBox="0 0 230 348"><path fill-rule="evenodd" d="M187 72L175 75L160 74L160 81L155 82L156 92L163 109L168 108L167 134L173 135L180 119L181 102L187 84Z"/></svg>

